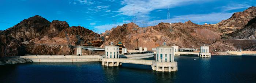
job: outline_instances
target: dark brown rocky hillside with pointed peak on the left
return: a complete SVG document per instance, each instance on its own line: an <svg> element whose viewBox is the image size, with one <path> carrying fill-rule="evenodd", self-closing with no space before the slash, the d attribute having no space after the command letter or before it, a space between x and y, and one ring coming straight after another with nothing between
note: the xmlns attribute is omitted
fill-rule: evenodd
<svg viewBox="0 0 256 83"><path fill-rule="evenodd" d="M80 41L94 40L95 35L89 29L81 26L69 27L66 21L54 20L49 22L41 16L33 16L4 30L0 34L0 57L24 54L74 54L75 49L68 47L65 38L68 33L71 45L80 45ZM25 42L29 41L29 43Z"/></svg>

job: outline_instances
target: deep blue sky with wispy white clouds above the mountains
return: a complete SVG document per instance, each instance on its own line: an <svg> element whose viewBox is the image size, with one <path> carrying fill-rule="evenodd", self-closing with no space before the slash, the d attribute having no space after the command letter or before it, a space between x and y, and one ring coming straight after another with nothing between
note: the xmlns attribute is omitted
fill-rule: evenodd
<svg viewBox="0 0 256 83"><path fill-rule="evenodd" d="M140 27L188 20L216 24L251 6L256 0L0 0L0 30L35 15L97 33L129 22Z"/></svg>

